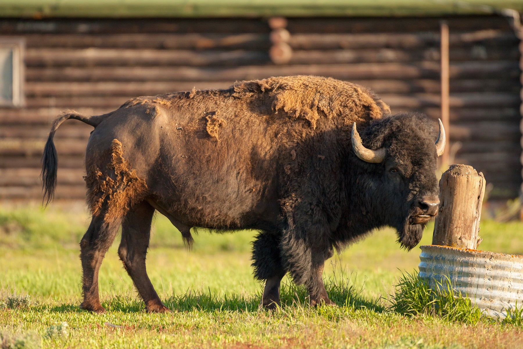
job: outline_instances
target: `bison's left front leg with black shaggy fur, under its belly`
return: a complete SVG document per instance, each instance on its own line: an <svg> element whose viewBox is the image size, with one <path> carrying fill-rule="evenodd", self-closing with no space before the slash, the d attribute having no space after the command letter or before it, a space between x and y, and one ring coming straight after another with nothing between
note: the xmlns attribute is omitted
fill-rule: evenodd
<svg viewBox="0 0 523 349"><path fill-rule="evenodd" d="M280 283L287 273L281 263L281 234L261 232L253 243L254 276L265 280L261 306L275 309L280 305Z"/></svg>

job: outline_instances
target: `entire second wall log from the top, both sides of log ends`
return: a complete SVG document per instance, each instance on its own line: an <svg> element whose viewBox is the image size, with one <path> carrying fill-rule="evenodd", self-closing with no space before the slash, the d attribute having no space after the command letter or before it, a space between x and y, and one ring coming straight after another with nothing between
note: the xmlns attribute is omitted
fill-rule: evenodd
<svg viewBox="0 0 523 349"><path fill-rule="evenodd" d="M266 33L147 33L147 34L34 34L27 35L28 48L149 48L149 49L266 49L270 44ZM482 44L483 46L514 47L518 39L513 32L481 30L453 33L451 47ZM419 49L439 46L439 33L435 31L416 33L295 33L289 39L292 49L361 49L402 48Z"/></svg>

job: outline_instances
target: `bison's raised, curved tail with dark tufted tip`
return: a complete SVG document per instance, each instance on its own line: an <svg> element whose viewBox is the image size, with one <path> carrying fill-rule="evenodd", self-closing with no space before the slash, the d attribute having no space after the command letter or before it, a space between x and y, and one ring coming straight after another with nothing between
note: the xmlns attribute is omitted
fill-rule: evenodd
<svg viewBox="0 0 523 349"><path fill-rule="evenodd" d="M101 121L105 119L105 115L99 116L85 116L78 114L74 110L67 110L53 121L51 132L47 138L46 146L43 148L42 155L42 190L43 190L43 205L49 205L49 202L54 197L54 189L56 188L56 172L58 170L58 156L56 156L56 148L54 147L53 138L56 129L62 122L67 119L76 119L87 123L87 125L96 127Z"/></svg>

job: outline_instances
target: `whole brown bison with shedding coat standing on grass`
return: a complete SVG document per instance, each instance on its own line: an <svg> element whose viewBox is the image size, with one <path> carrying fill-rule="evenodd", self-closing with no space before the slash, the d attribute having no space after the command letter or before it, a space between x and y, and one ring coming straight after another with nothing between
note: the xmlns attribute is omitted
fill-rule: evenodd
<svg viewBox="0 0 523 349"><path fill-rule="evenodd" d="M369 89L333 78L271 77L138 97L100 116L66 112L42 159L48 204L53 136L67 119L95 128L84 177L92 220L80 243L81 308L94 312L105 311L98 270L120 226L118 254L146 310L168 311L145 269L155 210L189 246L191 227L258 230L252 265L267 308L279 305L287 273L311 305L333 304L322 273L334 249L384 226L412 249L438 211L441 121L437 135L427 117L390 115Z"/></svg>

